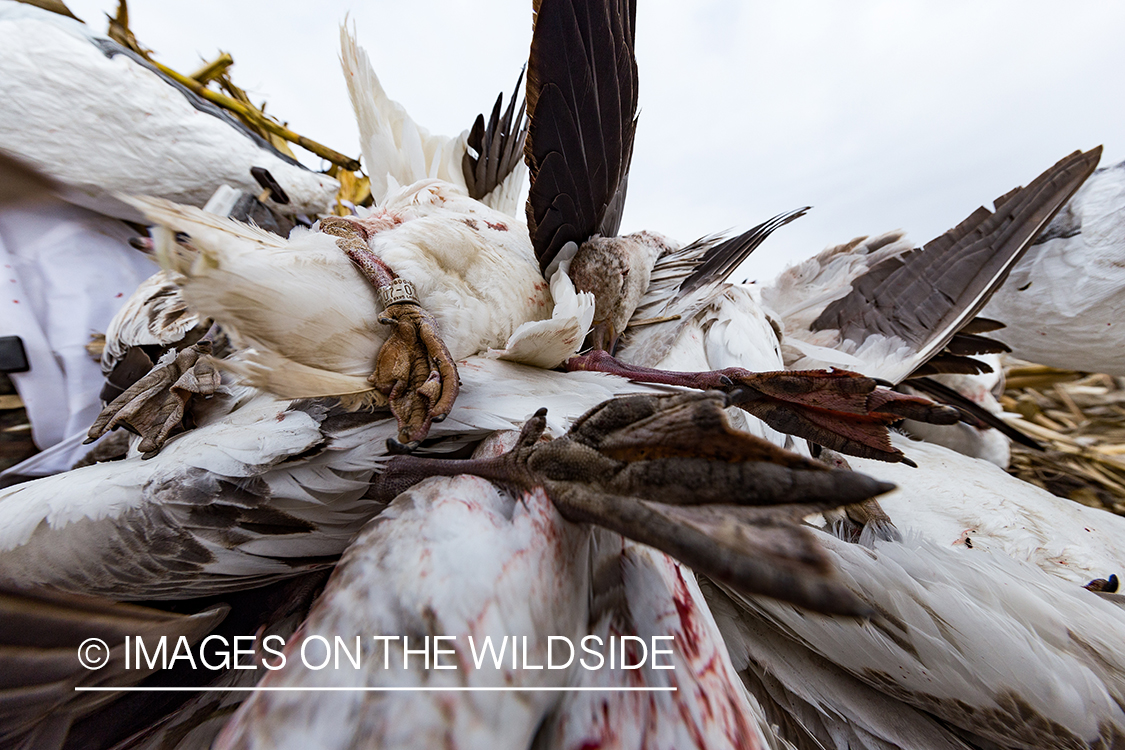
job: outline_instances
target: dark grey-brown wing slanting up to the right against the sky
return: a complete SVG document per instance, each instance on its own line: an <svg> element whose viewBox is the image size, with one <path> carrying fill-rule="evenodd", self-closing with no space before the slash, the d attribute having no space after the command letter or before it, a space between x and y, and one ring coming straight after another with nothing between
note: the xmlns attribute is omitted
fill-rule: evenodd
<svg viewBox="0 0 1125 750"><path fill-rule="evenodd" d="M856 342L882 333L939 351L984 306L1100 156L1100 146L1074 152L1026 188L998 198L994 211L979 208L925 247L875 265L811 328L838 328Z"/></svg>

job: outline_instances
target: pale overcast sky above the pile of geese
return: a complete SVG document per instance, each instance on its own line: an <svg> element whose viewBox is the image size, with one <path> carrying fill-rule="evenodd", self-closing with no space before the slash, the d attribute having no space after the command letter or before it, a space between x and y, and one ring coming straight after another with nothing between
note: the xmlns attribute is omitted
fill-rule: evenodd
<svg viewBox="0 0 1125 750"><path fill-rule="evenodd" d="M104 31L116 0L68 0ZM132 0L156 58L218 51L298 133L352 155L346 13L387 92L453 134L526 60L526 0ZM926 242L1076 148L1125 159L1117 0L641 0L640 125L622 231L678 240L812 205L744 275L861 234ZM310 162L312 163L312 162Z"/></svg>

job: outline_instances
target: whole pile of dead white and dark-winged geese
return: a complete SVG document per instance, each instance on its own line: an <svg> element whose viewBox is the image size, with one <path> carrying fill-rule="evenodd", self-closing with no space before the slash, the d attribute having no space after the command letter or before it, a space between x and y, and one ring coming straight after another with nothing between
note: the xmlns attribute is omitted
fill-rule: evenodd
<svg viewBox="0 0 1125 750"><path fill-rule="evenodd" d="M619 234L636 13L537 2L456 137L342 28L321 173L0 1L0 746L1125 747L1125 166L734 283L806 209ZM1098 503L1005 472L1060 437Z"/></svg>

